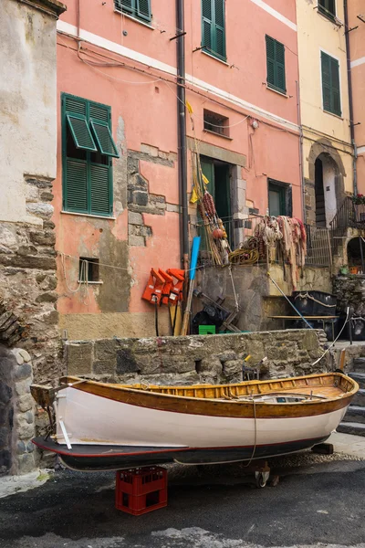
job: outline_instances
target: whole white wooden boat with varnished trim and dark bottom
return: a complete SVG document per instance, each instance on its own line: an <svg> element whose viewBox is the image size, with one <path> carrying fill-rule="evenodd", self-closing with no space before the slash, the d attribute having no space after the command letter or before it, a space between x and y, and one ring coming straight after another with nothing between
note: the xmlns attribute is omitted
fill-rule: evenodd
<svg viewBox="0 0 365 548"><path fill-rule="evenodd" d="M235 385L33 385L53 435L38 448L72 469L268 458L311 448L338 427L359 386L339 373Z"/></svg>

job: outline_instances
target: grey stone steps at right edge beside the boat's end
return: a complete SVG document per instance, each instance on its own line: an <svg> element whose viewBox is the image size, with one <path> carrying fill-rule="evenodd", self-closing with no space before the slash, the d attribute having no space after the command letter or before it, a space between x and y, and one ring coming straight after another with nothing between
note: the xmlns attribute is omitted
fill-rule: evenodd
<svg viewBox="0 0 365 548"><path fill-rule="evenodd" d="M353 398L337 431L365 436L365 358L354 359L353 371L349 373L349 377L358 383L360 390Z"/></svg>

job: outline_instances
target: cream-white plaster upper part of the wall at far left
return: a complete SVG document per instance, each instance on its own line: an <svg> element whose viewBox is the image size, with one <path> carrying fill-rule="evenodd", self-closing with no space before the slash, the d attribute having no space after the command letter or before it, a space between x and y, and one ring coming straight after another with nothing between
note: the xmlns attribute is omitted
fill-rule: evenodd
<svg viewBox="0 0 365 548"><path fill-rule="evenodd" d="M26 212L24 175L56 177L56 18L1 0L0 221Z"/></svg>

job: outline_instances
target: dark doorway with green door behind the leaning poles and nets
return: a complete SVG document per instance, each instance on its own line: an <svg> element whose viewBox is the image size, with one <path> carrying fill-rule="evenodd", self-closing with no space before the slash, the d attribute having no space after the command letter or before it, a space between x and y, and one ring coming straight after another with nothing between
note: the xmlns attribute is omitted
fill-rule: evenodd
<svg viewBox="0 0 365 548"><path fill-rule="evenodd" d="M234 246L234 231L231 205L231 164L214 160L206 156L201 156L200 163L203 175L205 175L209 181L209 184L206 185L206 189L214 198L217 215L223 221L228 242L232 248ZM203 241L202 248L206 249Z"/></svg>

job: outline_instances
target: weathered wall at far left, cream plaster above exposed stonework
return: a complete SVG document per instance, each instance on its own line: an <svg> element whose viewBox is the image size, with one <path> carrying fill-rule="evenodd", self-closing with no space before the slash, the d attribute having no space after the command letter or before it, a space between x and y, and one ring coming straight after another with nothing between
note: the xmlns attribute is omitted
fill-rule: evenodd
<svg viewBox="0 0 365 548"><path fill-rule="evenodd" d="M29 385L61 367L51 201L56 20L65 5L4 0L1 8L0 472L25 473L36 465Z"/></svg>

